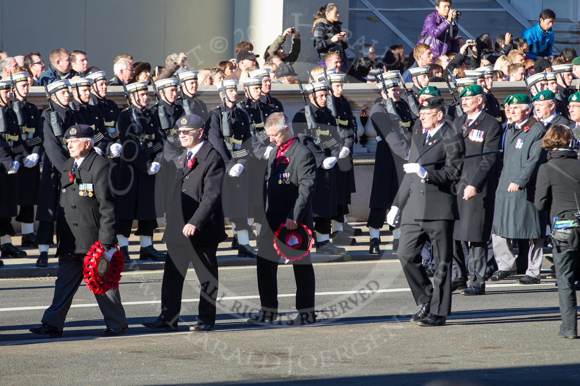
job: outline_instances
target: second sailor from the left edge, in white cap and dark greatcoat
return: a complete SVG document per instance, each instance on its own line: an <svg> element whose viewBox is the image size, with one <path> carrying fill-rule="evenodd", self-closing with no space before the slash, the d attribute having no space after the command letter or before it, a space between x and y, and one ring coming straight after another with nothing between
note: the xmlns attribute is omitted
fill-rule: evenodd
<svg viewBox="0 0 580 386"><path fill-rule="evenodd" d="M23 167L18 173L18 205L20 210L16 221L20 222L22 229L22 247L37 247L36 235L34 234L34 205L38 204L40 192L40 165L38 163L42 154L42 139L40 138L38 123L40 112L36 105L28 102L28 72L12 74L13 97L9 104L12 107L18 124L24 152L22 155ZM37 266L46 266L45 262L39 262Z"/></svg>

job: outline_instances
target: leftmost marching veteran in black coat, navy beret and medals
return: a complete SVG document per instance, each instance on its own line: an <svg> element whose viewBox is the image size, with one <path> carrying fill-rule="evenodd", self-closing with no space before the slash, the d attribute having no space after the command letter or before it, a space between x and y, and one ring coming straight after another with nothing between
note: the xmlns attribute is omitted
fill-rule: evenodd
<svg viewBox="0 0 580 386"><path fill-rule="evenodd" d="M55 296L42 317L42 325L30 329L35 334L63 335L64 320L83 279L86 252L96 241L102 242L106 250L114 248L117 198L111 189L111 163L93 149L93 135L93 129L85 124L72 126L64 135L70 158L59 167L61 190L56 214L59 270ZM107 326L101 334L127 332L119 290L110 289L104 295L95 294L95 298Z"/></svg>

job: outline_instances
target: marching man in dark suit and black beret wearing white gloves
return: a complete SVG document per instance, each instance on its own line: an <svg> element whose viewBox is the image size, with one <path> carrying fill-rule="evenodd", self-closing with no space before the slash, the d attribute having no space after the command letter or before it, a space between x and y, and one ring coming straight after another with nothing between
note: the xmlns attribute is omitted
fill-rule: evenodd
<svg viewBox="0 0 580 386"><path fill-rule="evenodd" d="M421 104L419 117L427 132L412 139L409 163L404 166L407 175L387 214L387 223L394 226L403 209L397 255L421 306L411 317L419 326L444 325L451 313L453 226L459 218L455 185L461 178L465 144L463 136L445 123L444 110L440 97ZM421 166L428 163L435 164ZM433 284L419 254L427 236L436 267Z"/></svg>

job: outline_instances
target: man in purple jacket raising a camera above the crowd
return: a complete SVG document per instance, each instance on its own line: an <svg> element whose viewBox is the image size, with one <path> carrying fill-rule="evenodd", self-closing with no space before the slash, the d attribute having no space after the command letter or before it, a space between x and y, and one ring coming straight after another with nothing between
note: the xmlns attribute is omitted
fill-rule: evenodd
<svg viewBox="0 0 580 386"><path fill-rule="evenodd" d="M419 43L431 47L433 60L438 56L459 52L457 10L451 9L451 0L435 0L435 11L425 18Z"/></svg>

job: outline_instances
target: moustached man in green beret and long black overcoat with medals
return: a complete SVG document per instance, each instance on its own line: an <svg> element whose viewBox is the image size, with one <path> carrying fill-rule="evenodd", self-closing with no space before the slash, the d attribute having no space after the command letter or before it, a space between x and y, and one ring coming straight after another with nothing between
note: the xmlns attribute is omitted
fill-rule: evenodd
<svg viewBox="0 0 580 386"><path fill-rule="evenodd" d="M467 86L459 97L465 115L455 119L453 128L463 135L465 155L499 150L501 123L485 111L483 87L477 84ZM494 220L498 160L499 153L466 159L461 180L457 184L459 219L455 221L453 231L455 253L451 289L455 291L466 287L465 260L468 260L471 283L462 292L463 295L485 294L487 243Z"/></svg>

